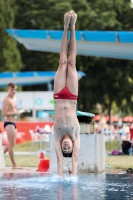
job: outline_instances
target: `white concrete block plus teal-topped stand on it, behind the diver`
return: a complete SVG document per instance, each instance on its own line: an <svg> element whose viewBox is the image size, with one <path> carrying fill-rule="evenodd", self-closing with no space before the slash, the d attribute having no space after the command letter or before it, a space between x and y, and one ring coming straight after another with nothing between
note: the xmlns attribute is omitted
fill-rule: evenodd
<svg viewBox="0 0 133 200"><path fill-rule="evenodd" d="M105 170L105 139L103 134L95 133L93 117L91 113L77 111L80 123L79 173L101 173ZM64 158L63 166L64 172L71 170L72 158ZM50 135L50 173L57 173L54 134Z"/></svg>

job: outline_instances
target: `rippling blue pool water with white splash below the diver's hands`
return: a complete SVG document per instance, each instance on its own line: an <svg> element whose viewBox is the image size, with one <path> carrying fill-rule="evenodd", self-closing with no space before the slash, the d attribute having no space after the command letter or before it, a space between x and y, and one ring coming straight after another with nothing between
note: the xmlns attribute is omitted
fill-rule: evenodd
<svg viewBox="0 0 133 200"><path fill-rule="evenodd" d="M0 174L0 200L131 200L132 174Z"/></svg>

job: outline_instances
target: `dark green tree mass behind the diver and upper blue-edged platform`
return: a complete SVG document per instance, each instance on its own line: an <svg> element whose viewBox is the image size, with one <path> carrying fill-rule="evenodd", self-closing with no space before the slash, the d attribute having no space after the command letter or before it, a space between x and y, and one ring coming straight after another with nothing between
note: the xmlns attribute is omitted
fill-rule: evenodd
<svg viewBox="0 0 133 200"><path fill-rule="evenodd" d="M78 14L77 30L133 30L130 0L19 0L16 3L17 29L62 30L64 13L73 9ZM19 49L23 70L48 71L58 67L59 54L28 51L20 44ZM95 105L100 103L109 114L113 104L129 112L133 101L132 65L128 60L77 56L77 70L86 73L79 84L80 109L96 112Z"/></svg>

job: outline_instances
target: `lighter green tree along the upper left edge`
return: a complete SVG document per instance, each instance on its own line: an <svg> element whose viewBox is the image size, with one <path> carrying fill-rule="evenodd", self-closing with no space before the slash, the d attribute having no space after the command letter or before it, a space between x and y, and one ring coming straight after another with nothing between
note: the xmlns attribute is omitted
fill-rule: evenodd
<svg viewBox="0 0 133 200"><path fill-rule="evenodd" d="M15 1L0 0L0 71L19 71L22 62L16 41L7 33L14 27Z"/></svg>

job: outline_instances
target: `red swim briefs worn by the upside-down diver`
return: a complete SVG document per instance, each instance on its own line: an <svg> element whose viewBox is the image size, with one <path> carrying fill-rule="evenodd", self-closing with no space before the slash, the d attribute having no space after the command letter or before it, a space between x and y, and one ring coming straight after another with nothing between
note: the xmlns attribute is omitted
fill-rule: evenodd
<svg viewBox="0 0 133 200"><path fill-rule="evenodd" d="M66 87L64 87L63 90L61 90L57 94L54 94L54 99L71 99L71 100L77 100L78 96L72 94L71 92L69 92L69 90Z"/></svg>

